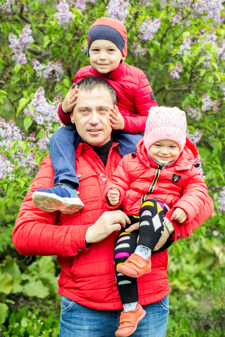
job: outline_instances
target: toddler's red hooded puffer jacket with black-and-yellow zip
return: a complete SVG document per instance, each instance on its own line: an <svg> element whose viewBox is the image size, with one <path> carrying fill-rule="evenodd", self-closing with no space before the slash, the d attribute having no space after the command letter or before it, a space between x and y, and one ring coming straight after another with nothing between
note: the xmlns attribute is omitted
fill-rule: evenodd
<svg viewBox="0 0 225 337"><path fill-rule="evenodd" d="M160 170L157 163L147 154L141 139L137 145L136 157L133 158L131 154L124 156L113 174L111 180L113 187L120 193L118 204L111 206L107 201L107 194L111 189L110 183L106 185L103 202L110 209L121 206L126 214L138 216L141 197L151 189L152 192L146 195L146 200L153 197L166 203L170 207L166 213L169 220L177 207L187 213L187 220L182 225L173 221L175 225L173 239L177 239L177 231L181 237L186 237L196 228L193 225L194 220L205 205L207 215L202 218L202 222L213 212L213 204L211 202L207 204L210 197L207 194L206 183L194 166L198 156L196 146L187 139L175 164Z"/></svg>

